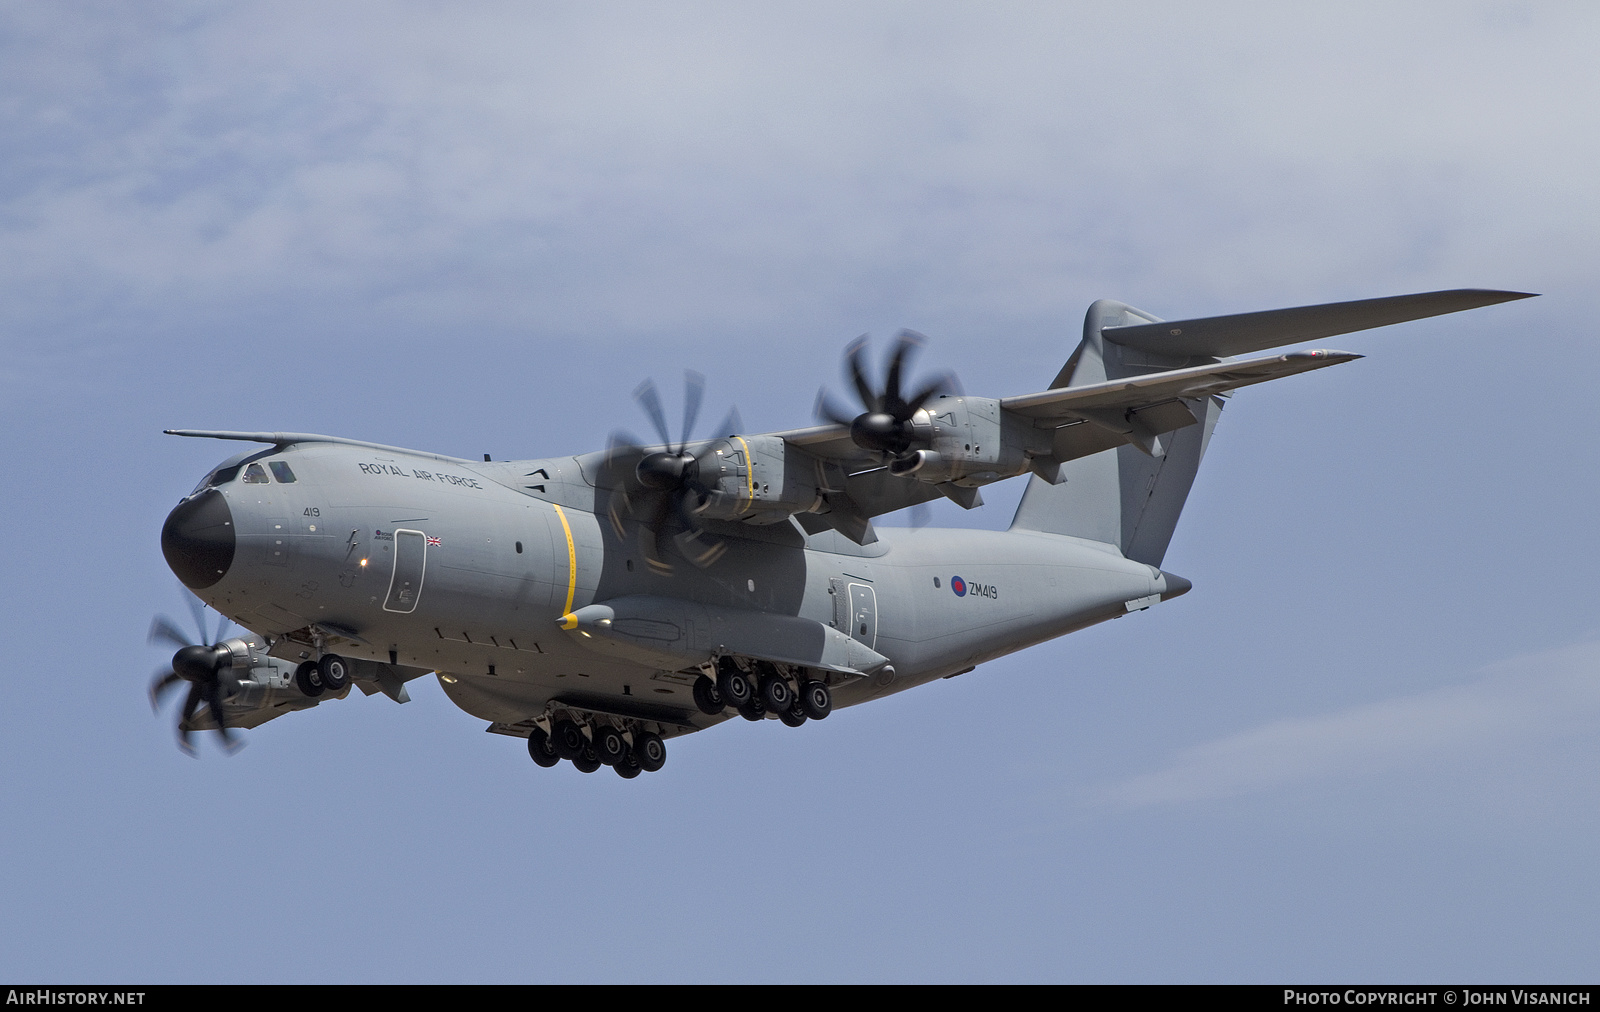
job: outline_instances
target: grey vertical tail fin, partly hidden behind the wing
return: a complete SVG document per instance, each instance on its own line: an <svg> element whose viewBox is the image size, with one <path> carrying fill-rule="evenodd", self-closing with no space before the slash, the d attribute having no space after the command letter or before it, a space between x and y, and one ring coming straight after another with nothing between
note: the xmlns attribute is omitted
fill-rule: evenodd
<svg viewBox="0 0 1600 1012"><path fill-rule="evenodd" d="M1107 327L1138 327L1160 319L1131 306L1101 299L1083 319L1083 341L1062 367L1051 389L1125 380L1170 368L1216 362L1210 355L1158 354L1101 336ZM1184 349L1189 351L1189 349ZM1013 530L1042 530L1114 544L1134 562L1162 565L1189 498L1200 458L1222 415L1222 399L1187 402L1198 424L1163 437L1166 452L1149 456L1138 447L1104 450L1062 464L1064 482L1030 477Z"/></svg>

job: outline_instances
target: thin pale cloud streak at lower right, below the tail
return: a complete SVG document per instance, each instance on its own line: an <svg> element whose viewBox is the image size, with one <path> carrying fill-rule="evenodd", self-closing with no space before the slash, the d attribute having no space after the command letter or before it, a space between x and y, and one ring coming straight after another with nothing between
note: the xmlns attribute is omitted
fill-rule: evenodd
<svg viewBox="0 0 1600 1012"><path fill-rule="evenodd" d="M1515 658L1477 682L1274 721L1179 753L1110 785L1120 807L1202 802L1288 785L1482 759L1600 727L1600 642Z"/></svg>

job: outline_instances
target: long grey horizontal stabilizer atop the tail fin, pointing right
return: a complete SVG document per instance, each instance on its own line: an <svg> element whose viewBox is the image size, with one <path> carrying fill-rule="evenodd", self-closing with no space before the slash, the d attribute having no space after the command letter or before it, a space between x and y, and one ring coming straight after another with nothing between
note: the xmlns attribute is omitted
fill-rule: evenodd
<svg viewBox="0 0 1600 1012"><path fill-rule="evenodd" d="M1200 320L1163 320L1138 327L1107 327L1101 333L1123 347L1171 355L1211 357L1248 355L1269 347L1320 341L1341 333L1389 327L1462 309L1478 309L1496 303L1533 298L1528 291L1491 291L1486 288L1454 288L1422 291L1355 303L1296 306L1266 312L1205 317Z"/></svg>

